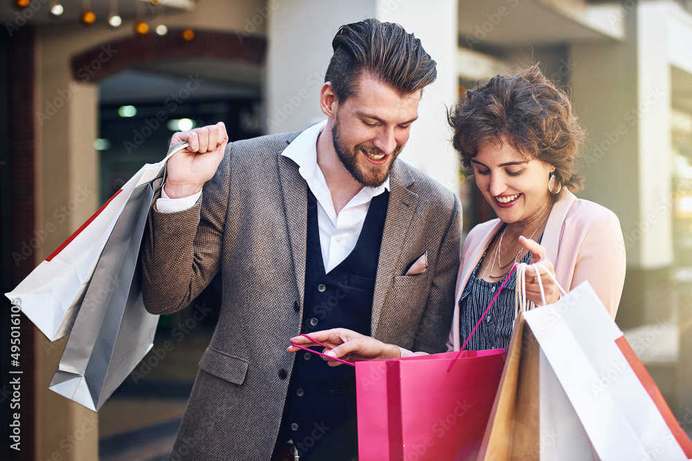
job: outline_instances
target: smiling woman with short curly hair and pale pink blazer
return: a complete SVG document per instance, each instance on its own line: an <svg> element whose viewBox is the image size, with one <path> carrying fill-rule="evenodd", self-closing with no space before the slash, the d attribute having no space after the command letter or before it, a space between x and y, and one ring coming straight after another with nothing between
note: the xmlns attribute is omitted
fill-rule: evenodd
<svg viewBox="0 0 692 461"><path fill-rule="evenodd" d="M541 263L567 291L588 280L614 318L625 279L622 232L612 211L572 194L583 184L574 164L584 135L567 95L531 66L468 91L448 120L464 167L498 215L471 229L464 241L448 350L459 350L468 339L516 262ZM543 274L546 301L554 303L557 287ZM467 349L507 347L515 287L512 274ZM526 289L529 301L542 304L530 269ZM311 337L334 347L329 356L352 360L424 353L340 328ZM316 346L305 337L291 342Z"/></svg>

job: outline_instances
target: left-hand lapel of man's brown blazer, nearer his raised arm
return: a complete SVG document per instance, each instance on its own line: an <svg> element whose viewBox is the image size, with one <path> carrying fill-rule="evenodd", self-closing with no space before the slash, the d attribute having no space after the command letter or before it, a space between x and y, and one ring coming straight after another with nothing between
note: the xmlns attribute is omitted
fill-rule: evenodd
<svg viewBox="0 0 692 461"><path fill-rule="evenodd" d="M289 144L292 139L286 140ZM285 147L285 146L284 146ZM307 245L307 183L298 173L298 165L290 158L278 156L279 179L293 256L293 273L298 284L300 305L305 290L305 247Z"/></svg>

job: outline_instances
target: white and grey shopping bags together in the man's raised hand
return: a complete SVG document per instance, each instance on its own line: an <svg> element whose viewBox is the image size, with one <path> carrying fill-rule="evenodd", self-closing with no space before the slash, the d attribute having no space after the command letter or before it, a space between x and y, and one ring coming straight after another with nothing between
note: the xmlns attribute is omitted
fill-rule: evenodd
<svg viewBox="0 0 692 461"><path fill-rule="evenodd" d="M152 348L158 315L144 308L137 259L165 164L187 145L145 164L6 294L51 341L69 335L50 388L93 411Z"/></svg>

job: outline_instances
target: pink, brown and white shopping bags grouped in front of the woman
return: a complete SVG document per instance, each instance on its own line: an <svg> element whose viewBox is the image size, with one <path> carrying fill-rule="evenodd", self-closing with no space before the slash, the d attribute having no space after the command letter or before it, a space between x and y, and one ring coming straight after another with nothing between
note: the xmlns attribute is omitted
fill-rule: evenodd
<svg viewBox="0 0 692 461"><path fill-rule="evenodd" d="M359 460L692 459L589 283L527 310L525 270L506 359L462 350L356 362Z"/></svg>

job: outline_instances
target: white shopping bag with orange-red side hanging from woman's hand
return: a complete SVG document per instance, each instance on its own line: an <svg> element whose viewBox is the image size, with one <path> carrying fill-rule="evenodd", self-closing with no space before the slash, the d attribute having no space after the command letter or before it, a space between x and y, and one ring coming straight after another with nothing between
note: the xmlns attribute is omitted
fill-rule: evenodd
<svg viewBox="0 0 692 461"><path fill-rule="evenodd" d="M692 442L591 285L563 294L524 314L540 345L541 433L553 435L540 459L692 458Z"/></svg>

